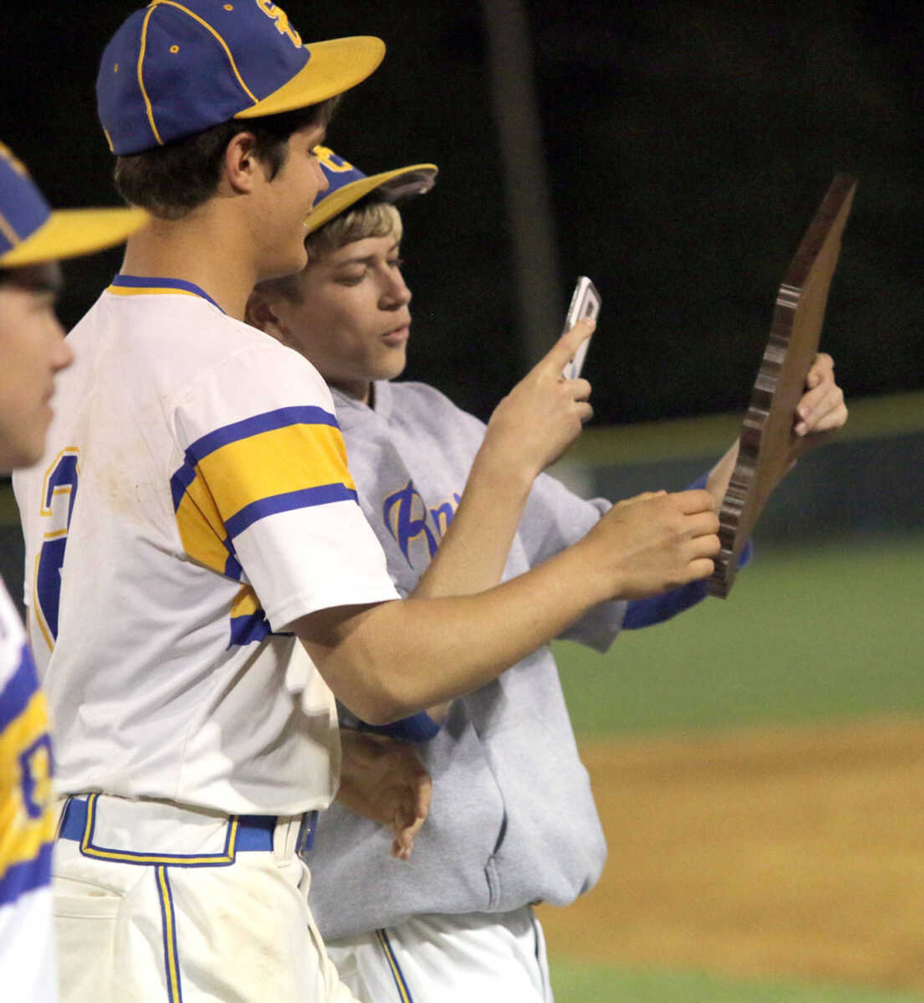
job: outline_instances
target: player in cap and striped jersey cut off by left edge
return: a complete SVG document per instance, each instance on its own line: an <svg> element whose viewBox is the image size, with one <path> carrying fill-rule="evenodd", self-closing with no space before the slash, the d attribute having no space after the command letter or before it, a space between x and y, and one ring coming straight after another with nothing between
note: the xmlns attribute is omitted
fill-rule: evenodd
<svg viewBox="0 0 924 1003"><path fill-rule="evenodd" d="M0 471L44 450L54 377L71 351L54 314L58 258L120 243L139 210L52 213L24 164L0 143ZM0 581L0 985L4 999L57 999L51 923L54 840L45 694Z"/></svg>

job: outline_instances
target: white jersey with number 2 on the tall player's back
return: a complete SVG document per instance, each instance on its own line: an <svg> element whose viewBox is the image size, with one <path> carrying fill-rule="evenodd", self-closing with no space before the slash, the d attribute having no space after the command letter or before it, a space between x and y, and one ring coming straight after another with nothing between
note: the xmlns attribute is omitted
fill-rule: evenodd
<svg viewBox="0 0 924 1003"><path fill-rule="evenodd" d="M46 458L14 478L64 793L323 808L315 610L396 598L327 386L196 286L116 276L70 335Z"/></svg>

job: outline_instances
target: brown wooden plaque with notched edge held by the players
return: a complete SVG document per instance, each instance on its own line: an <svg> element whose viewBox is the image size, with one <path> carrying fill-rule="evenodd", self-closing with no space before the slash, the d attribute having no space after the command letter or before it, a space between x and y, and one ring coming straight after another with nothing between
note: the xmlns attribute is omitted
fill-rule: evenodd
<svg viewBox="0 0 924 1003"><path fill-rule="evenodd" d="M709 595L727 597L737 561L792 461L795 410L818 352L828 289L857 181L838 175L806 232L780 292L769 340L741 427L737 463L719 512L721 551Z"/></svg>

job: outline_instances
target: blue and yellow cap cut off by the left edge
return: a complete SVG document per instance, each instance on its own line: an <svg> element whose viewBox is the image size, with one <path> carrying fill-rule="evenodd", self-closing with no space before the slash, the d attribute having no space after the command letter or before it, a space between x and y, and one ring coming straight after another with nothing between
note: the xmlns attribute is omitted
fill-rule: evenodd
<svg viewBox="0 0 924 1003"><path fill-rule="evenodd" d="M147 222L142 209L52 212L25 164L0 142L0 268L102 251Z"/></svg>

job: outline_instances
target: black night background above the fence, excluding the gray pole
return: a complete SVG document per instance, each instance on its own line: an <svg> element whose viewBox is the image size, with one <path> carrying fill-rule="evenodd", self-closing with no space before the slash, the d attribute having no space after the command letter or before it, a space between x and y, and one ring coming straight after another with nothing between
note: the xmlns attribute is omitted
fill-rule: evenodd
<svg viewBox="0 0 924 1003"><path fill-rule="evenodd" d="M239 0L240 2L240 0ZM0 138L56 206L112 204L101 49L140 4L7 3ZM329 144L367 173L432 160L404 219L407 375L486 416L524 371L511 226L478 4L282 5L306 41L383 38ZM833 176L860 179L823 347L849 396L924 383L920 5L527 0L556 235L554 316L588 274L599 422L746 404L776 288ZM117 252L66 267L73 324Z"/></svg>

